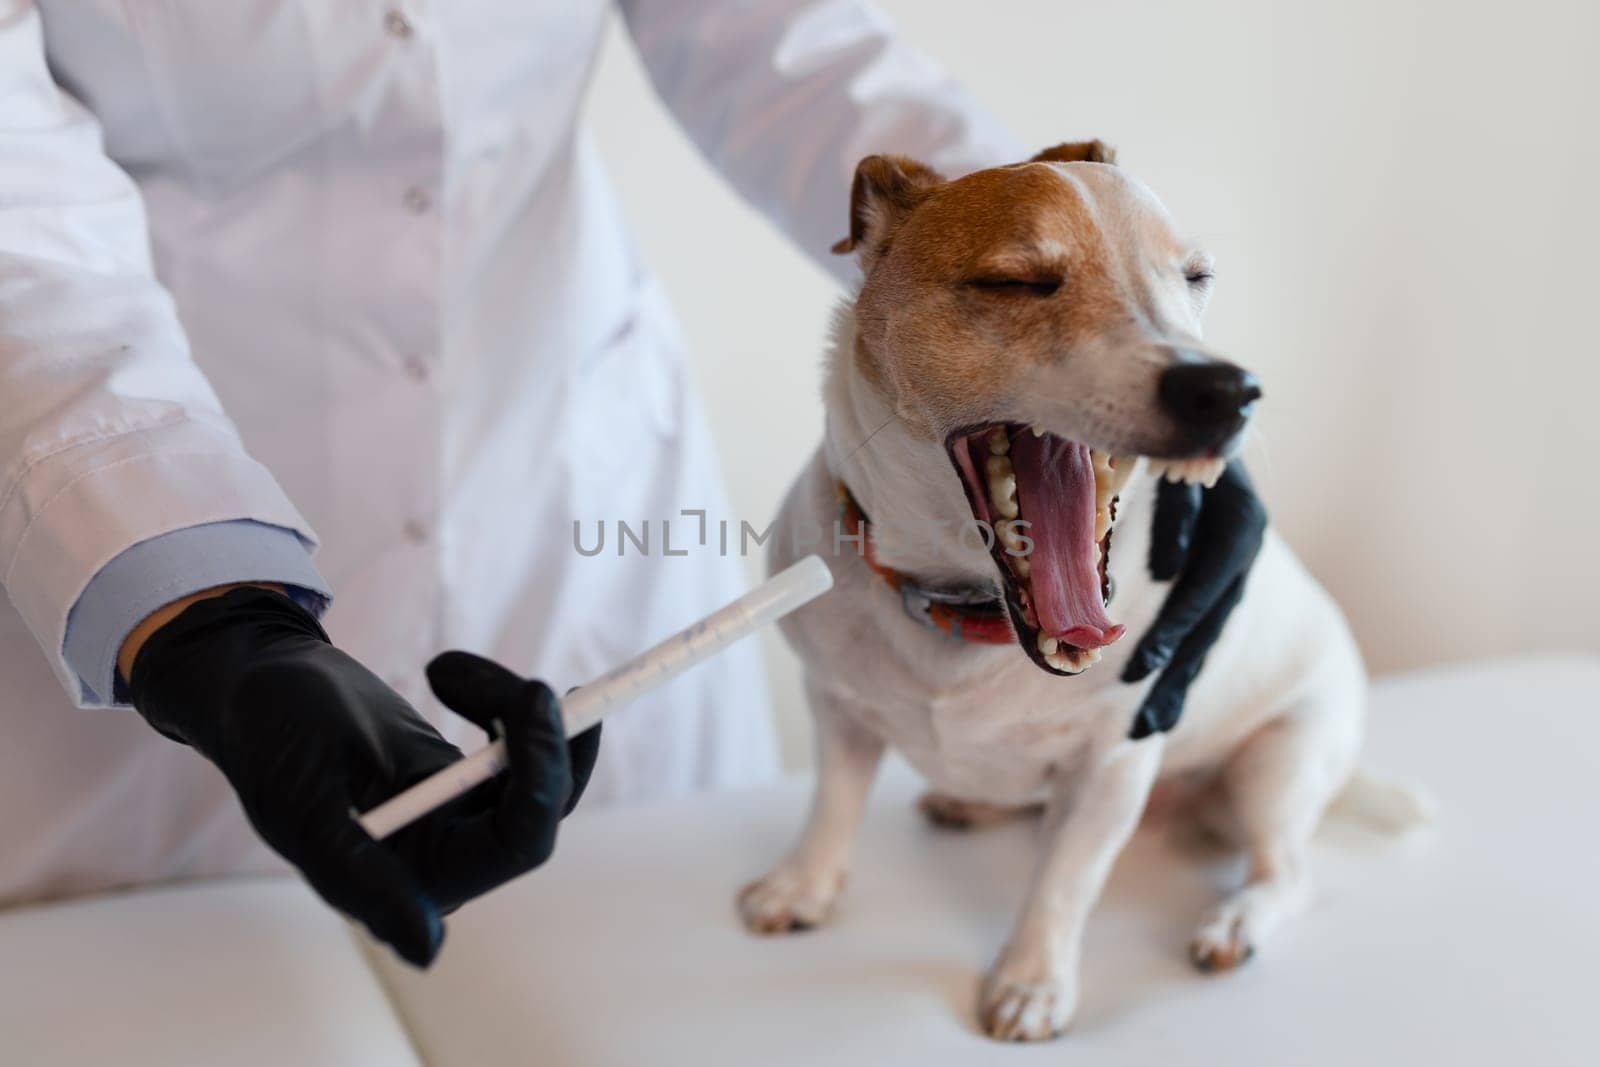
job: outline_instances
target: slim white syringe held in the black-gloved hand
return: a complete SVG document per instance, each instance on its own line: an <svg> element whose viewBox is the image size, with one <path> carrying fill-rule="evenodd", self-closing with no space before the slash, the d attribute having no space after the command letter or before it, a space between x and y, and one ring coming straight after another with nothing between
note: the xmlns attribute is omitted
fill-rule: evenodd
<svg viewBox="0 0 1600 1067"><path fill-rule="evenodd" d="M726 608L694 625L674 633L654 648L640 653L621 667L589 685L568 693L562 701L566 736L573 737L598 723L606 712L627 704L648 689L675 678L694 664L709 659L736 640L774 622L795 608L821 597L834 585L834 574L821 557L808 555L773 574ZM374 838L386 838L403 825L421 819L462 795L474 785L506 769L506 742L496 741L464 760L426 777L411 789L378 805L358 822Z"/></svg>

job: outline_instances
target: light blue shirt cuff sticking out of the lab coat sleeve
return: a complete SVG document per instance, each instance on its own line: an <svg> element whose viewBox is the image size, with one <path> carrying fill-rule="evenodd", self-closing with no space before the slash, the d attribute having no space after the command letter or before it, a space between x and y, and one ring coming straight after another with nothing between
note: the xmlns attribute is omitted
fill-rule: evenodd
<svg viewBox="0 0 1600 1067"><path fill-rule="evenodd" d="M165 603L227 582L282 582L318 616L331 598L310 561L310 545L283 526L238 518L141 541L102 566L67 614L62 656L78 677L83 702L128 704L117 653L133 627Z"/></svg>

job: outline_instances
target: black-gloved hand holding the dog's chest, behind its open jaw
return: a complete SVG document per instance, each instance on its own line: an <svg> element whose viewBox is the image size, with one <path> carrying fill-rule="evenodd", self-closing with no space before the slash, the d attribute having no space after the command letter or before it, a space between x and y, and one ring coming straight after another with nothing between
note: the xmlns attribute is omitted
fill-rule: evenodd
<svg viewBox="0 0 1600 1067"><path fill-rule="evenodd" d="M1178 581L1122 672L1123 681L1162 672L1139 705L1130 737L1178 725L1189 683L1245 595L1245 579L1266 530L1267 512L1237 461L1227 464L1210 490L1165 478L1157 486L1150 577Z"/></svg>

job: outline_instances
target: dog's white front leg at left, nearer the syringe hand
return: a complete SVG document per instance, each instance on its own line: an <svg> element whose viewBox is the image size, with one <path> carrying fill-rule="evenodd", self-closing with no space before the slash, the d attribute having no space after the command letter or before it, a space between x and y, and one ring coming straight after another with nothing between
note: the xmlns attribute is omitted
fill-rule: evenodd
<svg viewBox="0 0 1600 1067"><path fill-rule="evenodd" d="M834 907L883 758L883 739L853 721L832 699L811 694L816 720L816 795L794 849L739 894L744 925L758 934L816 926Z"/></svg>

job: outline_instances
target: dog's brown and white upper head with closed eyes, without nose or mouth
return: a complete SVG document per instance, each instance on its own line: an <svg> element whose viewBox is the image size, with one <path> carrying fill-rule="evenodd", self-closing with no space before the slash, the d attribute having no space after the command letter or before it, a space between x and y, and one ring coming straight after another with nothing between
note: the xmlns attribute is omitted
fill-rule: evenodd
<svg viewBox="0 0 1600 1067"><path fill-rule="evenodd" d="M1114 160L1101 141L1059 144L955 181L861 162L835 245L866 275L854 360L912 432L1021 421L1176 454L1155 379L1198 346L1210 272Z"/></svg>

